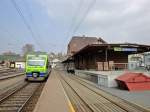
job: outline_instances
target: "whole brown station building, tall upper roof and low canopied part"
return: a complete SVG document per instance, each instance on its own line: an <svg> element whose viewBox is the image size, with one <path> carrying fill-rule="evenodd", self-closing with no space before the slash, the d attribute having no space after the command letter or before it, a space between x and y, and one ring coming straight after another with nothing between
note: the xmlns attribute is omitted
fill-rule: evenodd
<svg viewBox="0 0 150 112"><path fill-rule="evenodd" d="M102 38L73 37L68 44L68 60L79 70L120 70L128 68L128 55L150 51L149 45L107 43Z"/></svg>

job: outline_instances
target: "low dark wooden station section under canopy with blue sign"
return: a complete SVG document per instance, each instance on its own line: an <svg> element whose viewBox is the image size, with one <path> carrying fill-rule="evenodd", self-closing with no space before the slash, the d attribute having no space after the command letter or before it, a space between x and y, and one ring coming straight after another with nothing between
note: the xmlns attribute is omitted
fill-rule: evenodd
<svg viewBox="0 0 150 112"><path fill-rule="evenodd" d="M128 68L128 55L149 50L150 46L140 44L91 44L72 58L77 69L118 70Z"/></svg>

